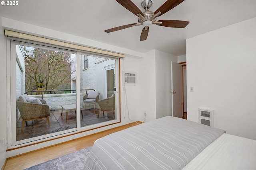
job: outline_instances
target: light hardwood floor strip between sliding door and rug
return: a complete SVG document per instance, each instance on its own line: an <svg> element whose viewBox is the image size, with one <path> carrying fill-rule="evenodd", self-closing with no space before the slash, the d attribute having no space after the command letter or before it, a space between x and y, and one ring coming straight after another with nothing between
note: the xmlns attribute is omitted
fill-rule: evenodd
<svg viewBox="0 0 256 170"><path fill-rule="evenodd" d="M140 122L141 123L141 122ZM138 123L133 122L120 127L115 127L106 131L88 135L79 139L74 139L65 143L60 143L58 145L50 146L43 149L34 150L32 152L24 153L22 155L7 158L5 166L2 170L23 170L54 158L58 158L65 154L75 152L86 147L90 147L94 144L97 139L109 135L111 133L126 129L138 125Z"/></svg>

